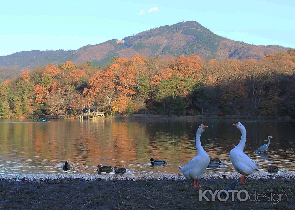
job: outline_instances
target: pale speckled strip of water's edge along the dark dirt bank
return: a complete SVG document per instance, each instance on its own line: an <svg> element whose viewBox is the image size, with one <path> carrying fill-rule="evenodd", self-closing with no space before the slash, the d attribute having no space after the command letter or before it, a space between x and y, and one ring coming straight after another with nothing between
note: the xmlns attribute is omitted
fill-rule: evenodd
<svg viewBox="0 0 295 210"><path fill-rule="evenodd" d="M202 179L240 179L241 174L229 173L229 172L207 172L203 175ZM247 176L247 179L276 179L286 178L295 179L295 172L285 173L268 173L259 172L253 173ZM156 180L185 180L186 178L182 173L169 174L169 173L125 173L125 174L114 174L114 173L102 173L102 174L0 174L0 181L56 181L56 180L73 180L80 179L84 181L94 180L145 180L145 179L156 179Z"/></svg>

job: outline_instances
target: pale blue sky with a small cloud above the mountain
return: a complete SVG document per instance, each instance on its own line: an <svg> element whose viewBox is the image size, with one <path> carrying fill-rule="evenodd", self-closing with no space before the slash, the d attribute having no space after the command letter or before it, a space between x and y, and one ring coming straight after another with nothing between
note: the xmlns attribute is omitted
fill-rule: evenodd
<svg viewBox="0 0 295 210"><path fill-rule="evenodd" d="M295 48L295 1L5 1L0 56L28 50L76 50L182 20L255 45Z"/></svg>

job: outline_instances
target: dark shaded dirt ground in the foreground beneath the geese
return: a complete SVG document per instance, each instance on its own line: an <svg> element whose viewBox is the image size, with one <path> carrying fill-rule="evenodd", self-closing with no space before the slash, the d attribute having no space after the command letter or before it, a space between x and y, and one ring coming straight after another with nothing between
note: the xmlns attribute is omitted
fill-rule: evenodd
<svg viewBox="0 0 295 210"><path fill-rule="evenodd" d="M234 180L201 179L201 188L190 180L0 181L0 209L295 209L295 179L248 179L235 189L249 193L280 193L288 201L199 201L199 189L224 189ZM238 181L238 180L236 180Z"/></svg>

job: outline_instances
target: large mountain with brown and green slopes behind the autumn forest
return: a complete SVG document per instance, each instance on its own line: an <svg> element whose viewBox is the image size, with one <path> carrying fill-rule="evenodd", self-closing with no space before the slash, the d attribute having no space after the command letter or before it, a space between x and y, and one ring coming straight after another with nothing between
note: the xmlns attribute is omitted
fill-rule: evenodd
<svg viewBox="0 0 295 210"><path fill-rule="evenodd" d="M218 60L261 59L266 54L288 49L277 45L256 46L234 41L214 34L196 21L187 21L150 29L123 40L112 39L101 44L86 45L78 50L32 50L0 56L0 69L32 69L67 60L76 65L91 61L93 66L99 66L112 56L130 58L136 54L148 57L197 54L202 59Z"/></svg>

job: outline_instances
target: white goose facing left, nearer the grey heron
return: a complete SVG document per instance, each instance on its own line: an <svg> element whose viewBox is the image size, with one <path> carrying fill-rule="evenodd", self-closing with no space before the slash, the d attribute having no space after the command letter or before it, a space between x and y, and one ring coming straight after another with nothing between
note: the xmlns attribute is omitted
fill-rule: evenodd
<svg viewBox="0 0 295 210"><path fill-rule="evenodd" d="M242 136L239 144L230 151L230 160L232 161L234 169L242 174L240 184L246 184L246 176L253 174L254 170L258 169L259 163L254 162L243 152L247 137L245 126L240 122L233 124L233 126L241 131Z"/></svg>

